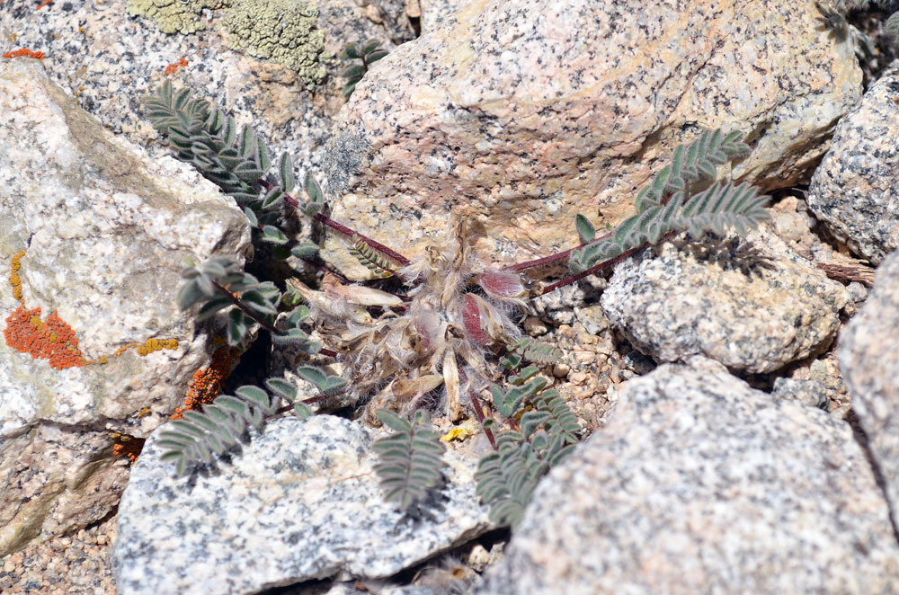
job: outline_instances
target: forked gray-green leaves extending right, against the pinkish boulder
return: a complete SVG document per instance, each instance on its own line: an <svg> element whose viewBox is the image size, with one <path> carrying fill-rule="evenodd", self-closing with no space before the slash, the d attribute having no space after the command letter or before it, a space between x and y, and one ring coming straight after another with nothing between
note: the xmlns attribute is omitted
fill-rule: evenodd
<svg viewBox="0 0 899 595"><path fill-rule="evenodd" d="M706 130L688 146L674 150L672 161L656 173L636 197L636 215L625 219L609 235L594 239L575 250L569 267L575 273L588 271L601 262L645 244L655 244L664 235L689 231L699 237L707 231L723 234L729 228L738 233L757 226L769 215L768 197L746 183L717 182L694 194L695 186L715 175L716 168L748 153L739 132L723 134ZM580 235L590 235L586 218L575 226Z"/></svg>

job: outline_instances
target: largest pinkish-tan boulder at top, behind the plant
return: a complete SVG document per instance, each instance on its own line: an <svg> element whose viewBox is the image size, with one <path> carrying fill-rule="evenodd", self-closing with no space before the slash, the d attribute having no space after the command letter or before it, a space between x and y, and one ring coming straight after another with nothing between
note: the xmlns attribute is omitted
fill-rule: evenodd
<svg viewBox="0 0 899 595"><path fill-rule="evenodd" d="M788 185L860 94L850 42L822 35L819 16L779 0L462 3L380 60L341 112L325 163L334 218L415 256L466 205L485 260L542 256L577 243L575 213L598 228L630 215L699 128L747 135L734 177Z"/></svg>

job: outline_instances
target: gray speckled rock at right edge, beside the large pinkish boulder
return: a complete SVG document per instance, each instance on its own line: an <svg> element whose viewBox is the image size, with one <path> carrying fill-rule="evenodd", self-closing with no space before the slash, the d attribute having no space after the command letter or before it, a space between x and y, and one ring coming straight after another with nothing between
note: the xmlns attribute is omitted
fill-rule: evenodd
<svg viewBox="0 0 899 595"><path fill-rule="evenodd" d="M894 68L840 120L808 188L815 217L875 264L899 246L897 102L899 69Z"/></svg>

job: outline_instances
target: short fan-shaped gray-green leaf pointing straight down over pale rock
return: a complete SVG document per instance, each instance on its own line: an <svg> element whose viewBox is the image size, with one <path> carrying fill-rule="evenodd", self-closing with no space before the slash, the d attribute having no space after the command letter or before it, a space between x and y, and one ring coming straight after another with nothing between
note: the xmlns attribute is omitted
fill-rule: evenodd
<svg viewBox="0 0 899 595"><path fill-rule="evenodd" d="M446 463L441 455L446 447L440 434L433 431L426 411L415 412L412 422L387 409L378 409L376 414L394 433L375 440L374 449L379 455L375 472L387 500L398 502L405 511L443 484Z"/></svg>

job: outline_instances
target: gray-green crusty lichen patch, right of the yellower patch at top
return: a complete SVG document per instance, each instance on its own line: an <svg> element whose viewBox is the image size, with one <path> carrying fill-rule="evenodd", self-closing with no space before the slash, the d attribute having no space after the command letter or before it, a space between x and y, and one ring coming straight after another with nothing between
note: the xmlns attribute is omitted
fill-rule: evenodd
<svg viewBox="0 0 899 595"><path fill-rule="evenodd" d="M228 47L278 62L311 87L325 80L325 33L318 9L297 0L240 0L228 11Z"/></svg>

